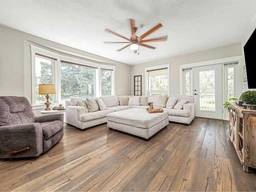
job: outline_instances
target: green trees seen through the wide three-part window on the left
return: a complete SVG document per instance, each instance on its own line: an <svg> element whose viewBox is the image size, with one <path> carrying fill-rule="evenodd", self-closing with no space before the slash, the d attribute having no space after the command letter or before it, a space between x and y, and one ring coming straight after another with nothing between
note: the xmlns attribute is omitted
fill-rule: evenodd
<svg viewBox="0 0 256 192"><path fill-rule="evenodd" d="M38 65L39 64L39 65ZM45 102L45 95L38 95L38 84L52 83L52 62L38 61L36 65L36 101ZM94 68L61 63L61 99L95 97L96 71ZM101 70L101 94L111 95L111 71Z"/></svg>

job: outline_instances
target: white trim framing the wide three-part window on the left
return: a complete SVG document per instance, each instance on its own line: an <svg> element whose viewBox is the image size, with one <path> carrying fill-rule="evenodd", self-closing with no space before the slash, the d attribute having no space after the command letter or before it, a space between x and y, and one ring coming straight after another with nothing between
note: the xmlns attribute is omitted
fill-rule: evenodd
<svg viewBox="0 0 256 192"><path fill-rule="evenodd" d="M103 69L109 69L109 70L112 70L112 75L111 75L111 94L112 95L115 95L115 70L116 70L116 67L115 66L108 66L108 65L100 65L98 63L94 63L94 62L89 62L89 61L84 61L82 59L77 59L77 58L73 58L73 57L67 57L67 56L64 56L64 55L60 55L60 54L57 54L57 53L53 53L51 51L47 51L47 50L44 50L44 49L41 49L41 48L38 48L38 47L35 47L35 46L32 46L31 45L31 72L32 72L32 107L33 109L41 109L42 106L45 106L44 104L36 104L36 101L35 101L35 56L36 54L40 54L40 55L44 55L46 58L47 57L51 57L51 58L54 58L56 60L53 59L53 76L52 76L52 79L53 79L53 83L55 84L56 86L56 91L57 91L57 94L54 95L53 97L53 104L57 104L61 101L65 101L67 99L61 99L61 74L60 74L60 60L65 60L65 61L69 61L69 62L74 62L74 63L77 63L79 65L84 65L84 66L89 66L89 67L93 67L93 68L97 68L96 69L96 97L99 97L101 96L101 75L100 75L100 70L101 68ZM42 56L44 58L44 56ZM47 58L49 59L49 58Z"/></svg>

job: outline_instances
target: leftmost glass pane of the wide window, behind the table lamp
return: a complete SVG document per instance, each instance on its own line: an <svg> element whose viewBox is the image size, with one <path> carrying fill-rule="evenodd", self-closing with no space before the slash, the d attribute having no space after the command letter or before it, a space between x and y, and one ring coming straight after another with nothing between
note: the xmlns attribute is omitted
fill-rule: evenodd
<svg viewBox="0 0 256 192"><path fill-rule="evenodd" d="M45 95L38 95L38 84L52 83L52 60L41 57L35 57L35 99L36 103L44 103L46 101ZM52 100L52 95L50 95Z"/></svg>

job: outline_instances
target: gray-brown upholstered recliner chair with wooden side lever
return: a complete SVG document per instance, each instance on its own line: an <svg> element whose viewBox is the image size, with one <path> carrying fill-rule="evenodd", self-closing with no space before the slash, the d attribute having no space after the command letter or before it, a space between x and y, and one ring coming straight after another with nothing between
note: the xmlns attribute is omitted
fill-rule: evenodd
<svg viewBox="0 0 256 192"><path fill-rule="evenodd" d="M0 96L0 158L38 157L63 136L63 114L35 117L25 97Z"/></svg>

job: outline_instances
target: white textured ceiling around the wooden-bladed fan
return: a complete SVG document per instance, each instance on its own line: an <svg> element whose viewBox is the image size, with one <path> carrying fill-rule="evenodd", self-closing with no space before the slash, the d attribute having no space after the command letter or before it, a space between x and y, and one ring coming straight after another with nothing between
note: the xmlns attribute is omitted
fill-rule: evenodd
<svg viewBox="0 0 256 192"><path fill-rule="evenodd" d="M255 0L0 0L1 25L130 65L241 42L255 13ZM103 44L124 40L105 28L131 37L128 18L136 19L138 36L162 23L146 38L168 40L148 43L156 49L141 47L139 55Z"/></svg>

